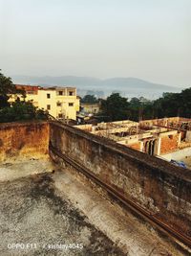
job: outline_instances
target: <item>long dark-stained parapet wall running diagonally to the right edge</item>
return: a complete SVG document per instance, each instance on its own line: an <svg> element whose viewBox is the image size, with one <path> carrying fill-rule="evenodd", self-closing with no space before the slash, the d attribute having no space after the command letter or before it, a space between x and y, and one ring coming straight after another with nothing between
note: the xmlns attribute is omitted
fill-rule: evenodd
<svg viewBox="0 0 191 256"><path fill-rule="evenodd" d="M88 168L160 220L191 236L191 173L83 130L51 124L58 151Z"/></svg>

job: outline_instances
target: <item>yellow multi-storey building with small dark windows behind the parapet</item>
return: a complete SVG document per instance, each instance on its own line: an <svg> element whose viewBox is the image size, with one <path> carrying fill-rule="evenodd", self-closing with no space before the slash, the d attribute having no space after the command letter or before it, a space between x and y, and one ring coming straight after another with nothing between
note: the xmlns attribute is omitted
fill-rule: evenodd
<svg viewBox="0 0 191 256"><path fill-rule="evenodd" d="M76 120L76 112L79 111L79 98L74 87L40 87L17 84L18 89L26 91L26 101L38 108L48 110L57 119ZM10 103L20 95L11 95Z"/></svg>

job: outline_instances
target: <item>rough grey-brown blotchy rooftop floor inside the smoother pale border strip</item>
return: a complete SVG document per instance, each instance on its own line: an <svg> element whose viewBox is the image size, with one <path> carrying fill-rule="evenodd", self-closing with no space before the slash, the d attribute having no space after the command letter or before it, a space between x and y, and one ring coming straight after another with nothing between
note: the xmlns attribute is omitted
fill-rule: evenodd
<svg viewBox="0 0 191 256"><path fill-rule="evenodd" d="M1 182L0 205L0 255L124 255L55 194L50 174Z"/></svg>

